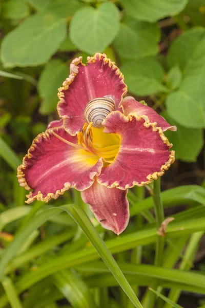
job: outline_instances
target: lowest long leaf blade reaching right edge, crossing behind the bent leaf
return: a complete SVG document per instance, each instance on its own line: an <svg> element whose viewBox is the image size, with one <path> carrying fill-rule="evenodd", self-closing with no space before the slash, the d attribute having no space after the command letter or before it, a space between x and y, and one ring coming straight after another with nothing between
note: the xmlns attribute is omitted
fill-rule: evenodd
<svg viewBox="0 0 205 308"><path fill-rule="evenodd" d="M190 286L197 290L194 284L193 277L199 279L200 282L204 281L203 275L200 272L191 271L180 271L179 269L171 269L164 267L157 267L148 264L131 264L126 262L119 262L120 268L126 275L126 277L133 277L132 281L136 284L136 279L139 281L139 285L149 285L154 279L160 280L160 284L166 287L173 287L174 285L183 285L183 290L188 290ZM90 277L86 278L86 282L90 287L93 286L115 286L116 282L112 279L111 274L109 274L108 268L101 261L89 262L83 265L74 266L75 269L85 277L87 273L92 273ZM192 276L193 275L193 276ZM138 282L137 281L137 282ZM200 291L203 289L204 293L204 282L200 285L197 281L197 287ZM193 289L192 289L193 290Z"/></svg>

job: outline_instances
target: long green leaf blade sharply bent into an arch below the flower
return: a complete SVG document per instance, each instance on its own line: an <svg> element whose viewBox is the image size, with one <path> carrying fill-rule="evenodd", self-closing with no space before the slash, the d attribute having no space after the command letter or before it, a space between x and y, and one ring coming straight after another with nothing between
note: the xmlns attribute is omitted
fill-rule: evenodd
<svg viewBox="0 0 205 308"><path fill-rule="evenodd" d="M129 283L125 279L124 275L121 273L120 268L118 267L117 263L113 259L111 253L109 252L108 248L106 247L103 240L101 240L100 236L95 230L95 227L92 225L90 219L87 217L85 212L76 205L65 205L59 208L51 208L49 210L44 211L43 213L35 216L27 226L20 230L18 235L16 236L15 240L11 243L11 245L6 250L1 263L0 263L0 273L3 274L5 265L8 261L13 257L14 254L17 253L17 250L26 240L28 235L40 224L45 222L48 218L53 215L59 214L61 211L67 211L68 214L79 224L79 226L84 230L86 236L89 238L91 243L94 245L95 249L97 250L100 257L109 267L111 273L118 281L119 285L131 299L131 301L135 304L137 308L142 308L139 300L137 299L136 295L134 294L132 288L130 287ZM76 253L75 253L76 254ZM54 260L55 261L55 260ZM51 264L49 262L48 264ZM47 264L46 264L47 265ZM56 268L55 268L56 269ZM57 272L57 271L56 271ZM0 304L1 306L1 304Z"/></svg>

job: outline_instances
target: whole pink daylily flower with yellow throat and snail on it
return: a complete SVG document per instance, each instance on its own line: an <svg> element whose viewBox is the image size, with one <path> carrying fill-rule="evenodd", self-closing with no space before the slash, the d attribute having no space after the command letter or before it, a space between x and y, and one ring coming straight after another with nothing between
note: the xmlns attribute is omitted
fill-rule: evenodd
<svg viewBox="0 0 205 308"><path fill-rule="evenodd" d="M150 183L174 162L163 131L176 127L124 98L124 76L105 54L88 57L87 65L81 61L72 61L59 88L61 120L33 140L17 177L32 189L27 203L80 190L97 220L120 234L129 220L128 188Z"/></svg>

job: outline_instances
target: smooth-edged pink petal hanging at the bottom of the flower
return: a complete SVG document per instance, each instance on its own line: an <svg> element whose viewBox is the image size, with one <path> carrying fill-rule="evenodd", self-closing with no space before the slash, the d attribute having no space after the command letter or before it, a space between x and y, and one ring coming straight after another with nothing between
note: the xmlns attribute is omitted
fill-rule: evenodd
<svg viewBox="0 0 205 308"><path fill-rule="evenodd" d="M107 188L95 181L93 185L81 191L84 202L90 208L101 225L119 235L129 222L129 202L127 190Z"/></svg>

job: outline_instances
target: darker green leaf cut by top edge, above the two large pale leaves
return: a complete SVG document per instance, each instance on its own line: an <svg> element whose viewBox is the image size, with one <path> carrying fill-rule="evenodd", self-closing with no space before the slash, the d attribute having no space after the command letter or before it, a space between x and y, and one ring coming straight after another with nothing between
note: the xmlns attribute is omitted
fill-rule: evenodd
<svg viewBox="0 0 205 308"><path fill-rule="evenodd" d="M71 17L82 5L78 0L51 0L46 11L58 18Z"/></svg>

